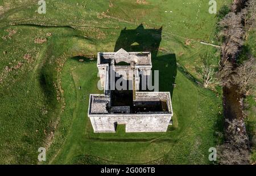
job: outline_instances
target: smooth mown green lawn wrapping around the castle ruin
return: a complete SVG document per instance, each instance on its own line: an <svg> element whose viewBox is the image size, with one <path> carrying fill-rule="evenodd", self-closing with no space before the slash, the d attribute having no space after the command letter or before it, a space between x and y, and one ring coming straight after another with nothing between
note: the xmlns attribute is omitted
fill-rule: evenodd
<svg viewBox="0 0 256 176"><path fill-rule="evenodd" d="M127 134L124 127L120 126L117 134L94 134L86 114L89 93L99 93L95 91L97 67L94 62L69 60L64 66L66 69L72 72L64 71L62 76L63 88L67 92L64 92L64 97L70 105L76 106L73 106L66 118L73 119L71 131L52 164L80 163L81 157L92 156L103 159L102 163L135 164L155 160L166 164L207 163L208 149L216 145L214 122L218 117L216 111L220 101L214 93L196 87L177 71L177 87L172 97L174 126L168 132ZM164 71L168 74L171 70L166 67ZM75 89L76 95L71 95L69 89ZM71 107L69 103L67 106ZM87 160L82 161L86 163Z"/></svg>

